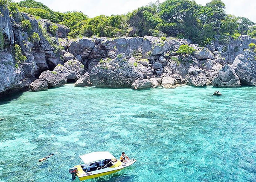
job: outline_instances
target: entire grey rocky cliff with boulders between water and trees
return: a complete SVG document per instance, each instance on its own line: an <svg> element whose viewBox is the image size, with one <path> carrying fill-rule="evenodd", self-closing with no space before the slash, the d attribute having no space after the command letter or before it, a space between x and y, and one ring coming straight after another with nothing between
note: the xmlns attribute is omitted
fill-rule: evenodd
<svg viewBox="0 0 256 182"><path fill-rule="evenodd" d="M247 50L248 44L256 43L256 39L250 36L236 40L216 36L206 48L173 37L68 40L69 29L64 25L56 24L58 29L52 32L49 27L53 23L49 20L36 20L20 13L22 19L31 24L31 30L27 31L20 20L10 18L8 9L0 7L0 11L4 15L0 17L0 29L8 41L8 46L0 52L0 94L27 89L37 78L44 79L49 87L61 86L67 80L76 81L75 86L93 84L110 88L131 88L133 83L137 85L136 80L143 79L150 80L153 88L174 88L184 83L197 87L256 84L255 52ZM36 40L31 38L32 33L38 34ZM25 61L15 59L14 42L26 56ZM177 54L181 45L189 45L195 52ZM40 82L35 83L30 88L40 90L34 88Z"/></svg>

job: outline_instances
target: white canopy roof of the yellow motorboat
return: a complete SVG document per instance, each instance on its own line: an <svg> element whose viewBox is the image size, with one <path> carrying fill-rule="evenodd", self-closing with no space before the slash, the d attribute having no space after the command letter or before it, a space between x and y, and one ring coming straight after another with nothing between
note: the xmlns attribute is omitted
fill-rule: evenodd
<svg viewBox="0 0 256 182"><path fill-rule="evenodd" d="M80 155L79 157L82 159L82 161L85 164L92 163L92 162L95 162L95 161L102 161L102 160L105 160L105 159L115 158L109 152L92 152L92 153L89 153L89 154Z"/></svg>

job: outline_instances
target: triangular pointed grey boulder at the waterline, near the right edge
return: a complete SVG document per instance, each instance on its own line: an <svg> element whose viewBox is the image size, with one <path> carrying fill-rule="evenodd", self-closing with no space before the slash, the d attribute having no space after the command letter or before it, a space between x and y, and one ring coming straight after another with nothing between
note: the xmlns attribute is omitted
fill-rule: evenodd
<svg viewBox="0 0 256 182"><path fill-rule="evenodd" d="M214 76L212 85L214 87L240 87L240 80L235 70L229 64L226 64Z"/></svg>

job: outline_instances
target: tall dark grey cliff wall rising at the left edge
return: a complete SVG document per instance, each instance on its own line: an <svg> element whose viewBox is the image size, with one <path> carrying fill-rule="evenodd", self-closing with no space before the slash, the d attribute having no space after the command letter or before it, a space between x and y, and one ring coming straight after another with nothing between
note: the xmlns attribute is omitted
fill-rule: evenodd
<svg viewBox="0 0 256 182"><path fill-rule="evenodd" d="M57 64L63 64L58 35L63 29L65 33L61 35L67 35L69 29L61 25L56 34L51 35L42 23L44 20L36 20L26 13L19 13L19 18L15 20L9 16L6 7L0 6L0 11L3 14L0 16L0 30L6 37L4 48L0 51L0 95L3 95L27 90L42 71L53 70ZM28 20L30 26L24 25L25 20ZM38 37L35 40L33 36L36 34ZM25 60L15 56L14 45L21 48Z"/></svg>

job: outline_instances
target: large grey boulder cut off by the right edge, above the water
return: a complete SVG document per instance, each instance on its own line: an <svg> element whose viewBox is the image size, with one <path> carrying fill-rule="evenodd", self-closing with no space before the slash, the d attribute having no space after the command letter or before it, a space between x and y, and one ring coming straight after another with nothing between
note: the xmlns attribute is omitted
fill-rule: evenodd
<svg viewBox="0 0 256 182"><path fill-rule="evenodd" d="M234 60L232 67L236 72L241 84L256 85L256 53L245 50Z"/></svg>

